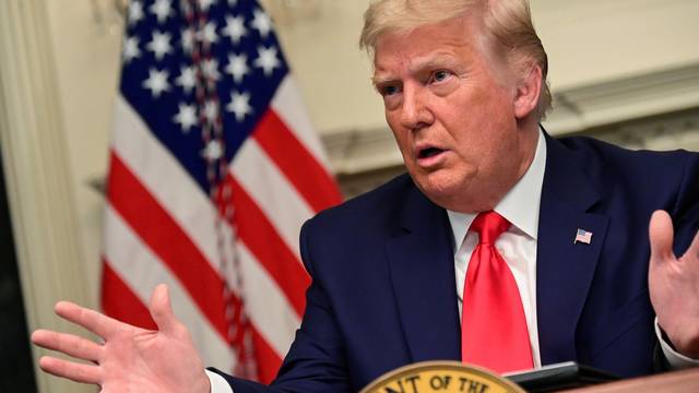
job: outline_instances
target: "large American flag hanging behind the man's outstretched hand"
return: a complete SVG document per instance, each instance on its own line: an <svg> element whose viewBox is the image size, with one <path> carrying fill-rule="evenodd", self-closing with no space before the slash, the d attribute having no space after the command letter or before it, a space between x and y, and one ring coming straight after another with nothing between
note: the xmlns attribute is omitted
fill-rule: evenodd
<svg viewBox="0 0 699 393"><path fill-rule="evenodd" d="M341 196L254 0L132 0L105 213L102 306L155 329L151 291L208 365L269 382L309 278L300 224Z"/></svg>

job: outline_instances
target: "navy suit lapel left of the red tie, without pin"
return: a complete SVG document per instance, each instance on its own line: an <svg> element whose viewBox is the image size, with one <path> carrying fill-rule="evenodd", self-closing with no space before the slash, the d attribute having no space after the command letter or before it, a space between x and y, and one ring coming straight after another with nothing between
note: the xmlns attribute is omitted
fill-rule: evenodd
<svg viewBox="0 0 699 393"><path fill-rule="evenodd" d="M414 190L401 233L386 251L413 361L460 358L460 323L451 229L446 212Z"/></svg>

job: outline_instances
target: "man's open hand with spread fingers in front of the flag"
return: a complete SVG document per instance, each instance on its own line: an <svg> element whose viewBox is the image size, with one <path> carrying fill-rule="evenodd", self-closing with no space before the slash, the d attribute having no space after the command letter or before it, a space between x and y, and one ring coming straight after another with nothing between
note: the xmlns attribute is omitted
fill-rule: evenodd
<svg viewBox="0 0 699 393"><path fill-rule="evenodd" d="M58 315L95 333L104 344L37 330L32 334L34 344L91 362L44 356L39 366L57 377L97 384L106 393L208 393L203 364L187 327L173 313L165 285L153 291L150 310L157 331L135 327L68 301L58 302Z"/></svg>

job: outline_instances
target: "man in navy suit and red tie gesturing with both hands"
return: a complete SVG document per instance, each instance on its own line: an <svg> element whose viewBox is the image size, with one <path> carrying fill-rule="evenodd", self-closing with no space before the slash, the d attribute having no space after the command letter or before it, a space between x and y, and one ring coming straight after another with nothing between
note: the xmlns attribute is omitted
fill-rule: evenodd
<svg viewBox="0 0 699 393"><path fill-rule="evenodd" d="M304 226L312 284L272 386L208 376L164 286L157 332L59 302L105 343L37 331L93 362L42 368L105 392L228 390L222 377L236 393L345 392L428 359L638 376L699 358L699 156L548 138L546 55L523 1L383 0L365 19L410 177Z"/></svg>

